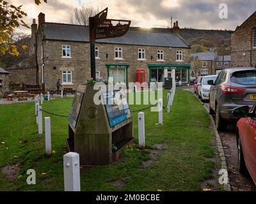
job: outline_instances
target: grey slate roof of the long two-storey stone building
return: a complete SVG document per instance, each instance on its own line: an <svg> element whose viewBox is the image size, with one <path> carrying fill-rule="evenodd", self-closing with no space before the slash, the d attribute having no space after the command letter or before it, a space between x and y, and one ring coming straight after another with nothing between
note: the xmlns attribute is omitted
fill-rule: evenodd
<svg viewBox="0 0 256 204"><path fill-rule="evenodd" d="M89 42L89 28L84 25L45 23L43 25L45 40L81 41ZM145 45L159 47L189 48L188 43L182 38L171 33L156 31L140 31L130 29L120 38L97 40L98 43L113 43L123 45Z"/></svg>

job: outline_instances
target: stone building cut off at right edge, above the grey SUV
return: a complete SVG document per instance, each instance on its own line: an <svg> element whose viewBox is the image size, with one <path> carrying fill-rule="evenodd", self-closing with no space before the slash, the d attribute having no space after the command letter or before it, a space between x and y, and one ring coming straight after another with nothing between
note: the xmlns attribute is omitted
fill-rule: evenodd
<svg viewBox="0 0 256 204"><path fill-rule="evenodd" d="M256 11L231 36L231 66L256 66Z"/></svg>

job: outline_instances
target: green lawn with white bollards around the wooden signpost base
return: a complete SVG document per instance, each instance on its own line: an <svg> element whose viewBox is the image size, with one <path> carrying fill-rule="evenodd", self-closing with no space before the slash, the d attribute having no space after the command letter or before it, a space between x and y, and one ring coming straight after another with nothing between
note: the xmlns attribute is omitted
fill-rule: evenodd
<svg viewBox="0 0 256 204"><path fill-rule="evenodd" d="M164 104L166 103L164 91ZM72 98L44 102L44 109L68 115ZM148 105L131 105L131 110ZM211 149L213 132L204 107L188 91L177 89L172 113L164 110L163 126L156 126L158 113L145 110L146 150L138 150L137 114L132 113L136 145L123 152L122 162L81 170L82 191L201 191L201 184L211 178L214 163ZM19 179L4 179L0 171L0 191L63 191L63 155L68 137L68 119L51 117L51 158L44 157L44 135L37 134L35 103L0 105L0 168L19 164ZM154 144L166 144L156 163L142 166L150 159ZM26 184L26 171L36 170L36 185ZM46 173L46 175L42 175ZM111 184L125 180L123 187Z"/></svg>

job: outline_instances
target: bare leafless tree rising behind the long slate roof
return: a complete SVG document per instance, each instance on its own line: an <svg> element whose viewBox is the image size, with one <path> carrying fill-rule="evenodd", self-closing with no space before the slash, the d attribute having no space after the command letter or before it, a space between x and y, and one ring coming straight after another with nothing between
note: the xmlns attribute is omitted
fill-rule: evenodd
<svg viewBox="0 0 256 204"><path fill-rule="evenodd" d="M89 18L99 13L99 7L94 9L92 6L84 4L81 8L72 11L70 22L76 25L89 25Z"/></svg>

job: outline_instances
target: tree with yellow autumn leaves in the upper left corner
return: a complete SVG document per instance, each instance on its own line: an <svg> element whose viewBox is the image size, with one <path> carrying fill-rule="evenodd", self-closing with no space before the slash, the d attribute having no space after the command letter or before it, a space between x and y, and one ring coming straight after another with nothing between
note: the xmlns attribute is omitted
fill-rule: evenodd
<svg viewBox="0 0 256 204"><path fill-rule="evenodd" d="M47 3L47 0L44 0ZM35 0L35 4L39 5L40 0ZM17 46L13 43L13 33L15 29L20 26L29 26L22 20L27 16L27 13L22 11L22 6L14 6L7 1L0 0L0 52L6 54L6 52L12 55L19 55ZM22 47L27 48L27 47Z"/></svg>

